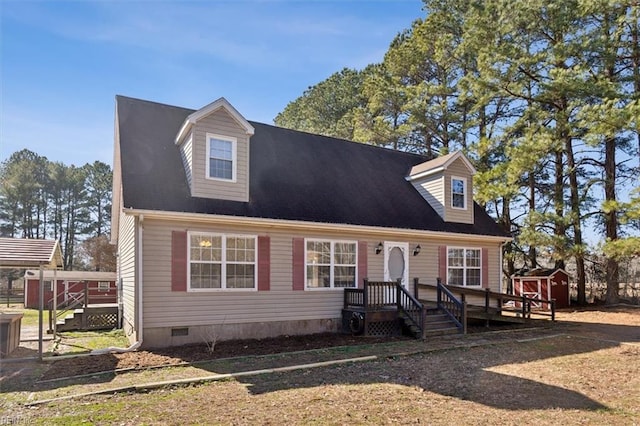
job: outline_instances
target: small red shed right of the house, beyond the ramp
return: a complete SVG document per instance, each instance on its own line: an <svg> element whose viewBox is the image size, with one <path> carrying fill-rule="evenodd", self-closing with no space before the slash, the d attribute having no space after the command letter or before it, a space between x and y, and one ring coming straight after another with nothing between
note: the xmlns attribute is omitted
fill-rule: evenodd
<svg viewBox="0 0 640 426"><path fill-rule="evenodd" d="M563 269L537 268L511 276L513 293L538 300L555 299L556 308L569 306L569 274ZM531 308L551 309L548 303L534 302Z"/></svg>

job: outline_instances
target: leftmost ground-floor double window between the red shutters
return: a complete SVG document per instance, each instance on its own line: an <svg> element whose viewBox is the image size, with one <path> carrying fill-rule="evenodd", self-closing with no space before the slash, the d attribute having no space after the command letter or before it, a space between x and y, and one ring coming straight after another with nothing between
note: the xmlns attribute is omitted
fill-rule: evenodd
<svg viewBox="0 0 640 426"><path fill-rule="evenodd" d="M189 234L189 290L255 290L256 237Z"/></svg>

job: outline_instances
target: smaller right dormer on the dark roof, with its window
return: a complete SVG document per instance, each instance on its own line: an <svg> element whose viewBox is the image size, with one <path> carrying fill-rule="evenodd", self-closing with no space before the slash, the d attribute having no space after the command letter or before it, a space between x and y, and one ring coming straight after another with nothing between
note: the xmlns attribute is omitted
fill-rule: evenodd
<svg viewBox="0 0 640 426"><path fill-rule="evenodd" d="M458 151L412 167L406 179L445 222L473 224L475 172Z"/></svg>

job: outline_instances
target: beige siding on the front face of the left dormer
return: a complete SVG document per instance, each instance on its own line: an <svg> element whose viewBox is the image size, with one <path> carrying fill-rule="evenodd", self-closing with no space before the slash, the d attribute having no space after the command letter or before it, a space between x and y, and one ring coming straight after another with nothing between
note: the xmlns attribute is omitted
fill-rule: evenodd
<svg viewBox="0 0 640 426"><path fill-rule="evenodd" d="M207 179L206 136L213 133L237 139L236 181ZM249 201L249 136L224 109L199 120L193 127L191 195L232 201Z"/></svg>

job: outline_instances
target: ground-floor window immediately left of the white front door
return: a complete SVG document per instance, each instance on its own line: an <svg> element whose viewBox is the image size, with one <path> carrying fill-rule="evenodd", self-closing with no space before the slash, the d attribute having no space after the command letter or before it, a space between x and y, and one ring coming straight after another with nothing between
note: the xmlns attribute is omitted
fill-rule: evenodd
<svg viewBox="0 0 640 426"><path fill-rule="evenodd" d="M306 240L305 259L307 288L356 287L355 242Z"/></svg>

